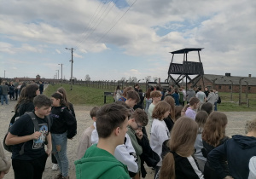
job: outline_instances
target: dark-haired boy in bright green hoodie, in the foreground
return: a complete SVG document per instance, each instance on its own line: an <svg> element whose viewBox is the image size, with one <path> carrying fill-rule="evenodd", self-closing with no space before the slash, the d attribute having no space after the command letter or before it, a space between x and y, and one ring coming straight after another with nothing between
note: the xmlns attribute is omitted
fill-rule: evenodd
<svg viewBox="0 0 256 179"><path fill-rule="evenodd" d="M84 158L75 161L77 179L130 178L127 167L113 156L125 141L128 115L129 110L116 103L100 108L96 115L99 141L86 150Z"/></svg>

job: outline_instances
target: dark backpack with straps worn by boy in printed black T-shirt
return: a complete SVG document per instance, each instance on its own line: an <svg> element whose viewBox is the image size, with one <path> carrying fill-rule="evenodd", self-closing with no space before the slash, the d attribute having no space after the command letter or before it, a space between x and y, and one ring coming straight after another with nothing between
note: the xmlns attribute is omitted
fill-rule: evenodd
<svg viewBox="0 0 256 179"><path fill-rule="evenodd" d="M36 118L36 115L35 115L34 113L32 113L32 112L29 112L29 113L27 113L27 114L28 114L28 115L30 116L30 118L32 119L32 122L33 122L33 124L34 124L34 126L35 126L35 130L36 130L36 131L39 131L40 129L39 129L39 126L38 126L38 119ZM16 113L15 113L15 115L13 116L13 118L11 118L11 120L10 120L9 129L10 129L11 126L15 123L15 121L18 120L19 118L20 118L20 117L16 117ZM47 121L48 121L48 132L47 132L47 135L46 135L46 136L48 136L49 131L50 131L50 126L51 126L51 119L49 118L49 116L46 116L46 118L47 118ZM5 135L4 138L3 138L3 147L4 147L4 149L7 150L8 152L12 153L12 151L13 151L13 150L12 150L13 145L9 145L9 146L8 146L8 145L5 144L6 136L7 136L8 133L9 133L9 129L8 129L6 135ZM21 149L20 149L20 155L22 155L22 154L24 153L25 143L26 143L26 142L23 143L23 145L22 145L22 147L21 147ZM47 141L47 138L46 138L46 137L45 137L44 144L45 144L45 145L48 144L48 141Z"/></svg>

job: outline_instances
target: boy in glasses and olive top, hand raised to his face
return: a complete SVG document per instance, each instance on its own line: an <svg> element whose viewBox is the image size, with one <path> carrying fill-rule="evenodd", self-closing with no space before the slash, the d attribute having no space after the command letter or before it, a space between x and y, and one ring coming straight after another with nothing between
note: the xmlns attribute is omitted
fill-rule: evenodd
<svg viewBox="0 0 256 179"><path fill-rule="evenodd" d="M140 155L143 153L143 147L141 147L138 140L142 140L143 138L143 127L148 124L147 113L145 113L142 109L137 109L134 113L131 114L131 118L128 120L128 131L127 134L131 138L132 146L135 149L138 158L138 172L134 178L140 178L140 168L141 168L141 159Z"/></svg>

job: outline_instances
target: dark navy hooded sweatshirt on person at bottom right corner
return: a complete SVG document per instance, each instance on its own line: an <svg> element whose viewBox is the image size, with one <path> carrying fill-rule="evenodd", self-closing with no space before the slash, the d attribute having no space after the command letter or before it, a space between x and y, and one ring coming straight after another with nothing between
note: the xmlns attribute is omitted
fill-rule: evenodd
<svg viewBox="0 0 256 179"><path fill-rule="evenodd" d="M248 178L249 160L256 156L256 138L253 136L232 136L232 139L226 141L213 149L208 154L207 161L218 176L224 178L226 175L224 169L219 165L219 158L226 157L230 170L230 176L234 179Z"/></svg>

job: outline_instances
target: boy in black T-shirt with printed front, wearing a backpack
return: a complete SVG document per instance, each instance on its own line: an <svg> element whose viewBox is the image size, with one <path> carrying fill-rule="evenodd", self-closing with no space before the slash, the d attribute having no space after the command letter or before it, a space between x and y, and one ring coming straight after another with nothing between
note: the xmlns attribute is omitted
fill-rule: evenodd
<svg viewBox="0 0 256 179"><path fill-rule="evenodd" d="M38 120L39 131L35 130L32 118L28 114L20 118L11 126L6 137L6 145L13 145L12 165L15 179L42 178L46 159L51 153L51 136L47 115L49 115L52 101L46 95L38 95L33 104ZM47 138L47 150L44 150L44 141ZM23 145L25 144L25 145ZM22 153L24 149L24 153ZM21 152L21 153L20 153Z"/></svg>

